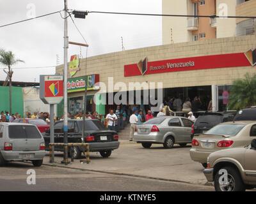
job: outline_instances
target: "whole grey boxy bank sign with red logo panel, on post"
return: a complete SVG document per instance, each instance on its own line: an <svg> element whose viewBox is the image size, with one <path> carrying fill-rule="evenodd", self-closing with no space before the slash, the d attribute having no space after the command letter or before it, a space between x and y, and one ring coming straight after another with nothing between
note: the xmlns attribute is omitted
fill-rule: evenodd
<svg viewBox="0 0 256 204"><path fill-rule="evenodd" d="M45 104L58 104L62 101L62 75L40 75L40 99Z"/></svg>

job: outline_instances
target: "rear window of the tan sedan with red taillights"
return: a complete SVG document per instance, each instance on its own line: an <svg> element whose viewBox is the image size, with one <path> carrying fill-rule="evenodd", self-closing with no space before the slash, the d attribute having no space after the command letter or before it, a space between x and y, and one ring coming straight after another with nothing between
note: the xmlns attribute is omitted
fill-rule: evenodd
<svg viewBox="0 0 256 204"><path fill-rule="evenodd" d="M236 136L245 125L242 124L220 124L210 129L205 135L228 135Z"/></svg>

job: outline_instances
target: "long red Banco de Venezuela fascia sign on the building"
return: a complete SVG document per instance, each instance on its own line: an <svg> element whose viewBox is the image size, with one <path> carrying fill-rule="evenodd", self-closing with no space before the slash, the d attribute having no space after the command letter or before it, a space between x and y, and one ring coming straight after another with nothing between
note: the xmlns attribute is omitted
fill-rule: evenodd
<svg viewBox="0 0 256 204"><path fill-rule="evenodd" d="M190 71L196 69L232 68L252 66L244 53L207 55L164 61L148 62L147 58L138 64L124 66L124 77L152 75L172 71Z"/></svg>

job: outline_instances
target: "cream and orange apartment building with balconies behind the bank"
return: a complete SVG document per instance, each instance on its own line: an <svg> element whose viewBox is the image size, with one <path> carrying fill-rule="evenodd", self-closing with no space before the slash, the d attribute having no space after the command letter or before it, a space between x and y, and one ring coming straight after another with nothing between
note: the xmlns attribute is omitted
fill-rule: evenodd
<svg viewBox="0 0 256 204"><path fill-rule="evenodd" d="M256 0L163 0L163 13L181 15L256 15ZM253 34L255 20L163 17L163 44Z"/></svg>

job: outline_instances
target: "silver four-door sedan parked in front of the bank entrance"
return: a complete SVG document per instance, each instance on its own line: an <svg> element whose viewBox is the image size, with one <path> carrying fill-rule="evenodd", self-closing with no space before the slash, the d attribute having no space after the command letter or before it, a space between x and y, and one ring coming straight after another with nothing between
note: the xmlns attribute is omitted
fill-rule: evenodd
<svg viewBox="0 0 256 204"><path fill-rule="evenodd" d="M166 149L172 148L175 143L185 147L191 143L192 125L193 121L186 117L156 117L137 126L133 140L145 148L150 148L152 143L163 144Z"/></svg>

